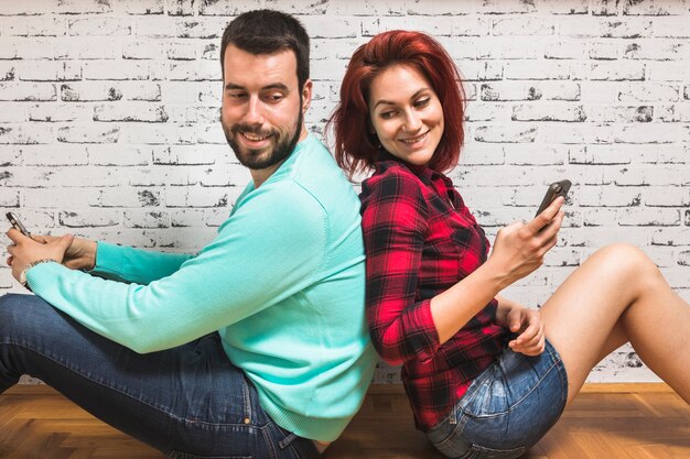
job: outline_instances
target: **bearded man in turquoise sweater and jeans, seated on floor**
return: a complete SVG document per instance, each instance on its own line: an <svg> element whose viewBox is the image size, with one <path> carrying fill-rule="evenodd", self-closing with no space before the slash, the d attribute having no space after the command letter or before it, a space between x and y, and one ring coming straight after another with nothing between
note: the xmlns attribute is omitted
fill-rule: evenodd
<svg viewBox="0 0 690 459"><path fill-rule="evenodd" d="M216 239L192 256L8 231L36 296L0 298L0 390L29 373L170 457L316 457L376 362L359 201L303 123L301 24L244 13L220 59L223 129L252 181Z"/></svg>

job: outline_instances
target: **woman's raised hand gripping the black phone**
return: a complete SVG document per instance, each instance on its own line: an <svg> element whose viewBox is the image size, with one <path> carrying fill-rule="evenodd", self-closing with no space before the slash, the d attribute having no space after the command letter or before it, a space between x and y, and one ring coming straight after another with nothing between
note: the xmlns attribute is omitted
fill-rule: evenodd
<svg viewBox="0 0 690 459"><path fill-rule="evenodd" d="M504 288L541 266L543 256L558 241L562 205L563 198L559 197L528 223L515 222L498 231L486 264L504 278Z"/></svg>

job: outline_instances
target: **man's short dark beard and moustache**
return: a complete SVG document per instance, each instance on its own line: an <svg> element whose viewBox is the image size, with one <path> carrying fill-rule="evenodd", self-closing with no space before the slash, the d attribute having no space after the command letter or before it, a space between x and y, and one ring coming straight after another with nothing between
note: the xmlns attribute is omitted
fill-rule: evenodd
<svg viewBox="0 0 690 459"><path fill-rule="evenodd" d="M300 96L300 107L302 107L302 97ZM235 156L239 160L240 164L250 170L263 170L276 164L279 164L281 161L290 156L298 142L300 141L300 134L302 133L302 122L304 120L304 114L300 109L298 116L298 122L294 128L294 133L291 136L280 138L280 132L277 130L262 131L260 127L236 123L231 127L228 127L223 119L220 119L220 124L223 125L223 132L225 132L225 139L228 144L235 152ZM237 141L235 141L235 136L241 135L241 132L247 132L250 134L255 134L258 136L267 136L271 135L276 139L276 146L268 155L258 154L258 150L245 150L239 145Z"/></svg>

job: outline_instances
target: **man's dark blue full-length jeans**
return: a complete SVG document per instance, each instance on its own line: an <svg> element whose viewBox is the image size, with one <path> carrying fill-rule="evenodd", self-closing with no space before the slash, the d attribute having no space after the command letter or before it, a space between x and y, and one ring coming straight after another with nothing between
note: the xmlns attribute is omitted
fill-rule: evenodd
<svg viewBox="0 0 690 459"><path fill-rule="evenodd" d="M311 459L312 440L278 426L218 334L139 354L32 295L0 297L0 392L22 374L170 458Z"/></svg>

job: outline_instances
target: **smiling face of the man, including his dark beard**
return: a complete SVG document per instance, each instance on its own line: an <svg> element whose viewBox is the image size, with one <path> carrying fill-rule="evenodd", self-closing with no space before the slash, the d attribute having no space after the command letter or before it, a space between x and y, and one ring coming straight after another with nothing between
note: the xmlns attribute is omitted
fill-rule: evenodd
<svg viewBox="0 0 690 459"><path fill-rule="evenodd" d="M228 45L220 123L239 162L272 173L306 136L311 81L300 89L291 50L254 55Z"/></svg>

